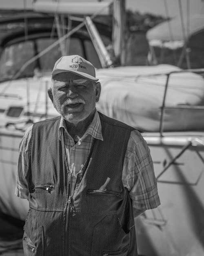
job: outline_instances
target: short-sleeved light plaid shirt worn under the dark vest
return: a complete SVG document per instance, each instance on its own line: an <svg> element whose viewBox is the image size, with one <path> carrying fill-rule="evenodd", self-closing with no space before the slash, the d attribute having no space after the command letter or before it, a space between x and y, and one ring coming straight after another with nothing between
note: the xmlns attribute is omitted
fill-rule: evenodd
<svg viewBox="0 0 204 256"><path fill-rule="evenodd" d="M63 130L69 170L72 173L71 189L73 191L75 176L82 169L87 159L93 139L103 140L98 112L95 111L91 124L82 138L77 142L69 135L65 121L61 118L59 127L60 140L62 139ZM30 157L31 147L29 142L31 133L32 126L24 134L20 143L15 194L21 198L28 198L29 193L25 177ZM149 147L142 135L136 130L131 131L127 145L122 171L122 182L124 187L129 190L133 208L137 209L137 211L142 212L160 205Z"/></svg>

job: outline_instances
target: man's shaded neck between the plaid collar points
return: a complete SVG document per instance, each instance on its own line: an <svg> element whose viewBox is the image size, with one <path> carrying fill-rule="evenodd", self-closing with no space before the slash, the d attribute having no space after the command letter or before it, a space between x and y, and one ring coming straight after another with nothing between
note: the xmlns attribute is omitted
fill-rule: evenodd
<svg viewBox="0 0 204 256"><path fill-rule="evenodd" d="M95 111L91 113L86 119L78 122L78 123L70 123L65 120L67 131L73 140L78 141L85 134L87 128L91 124Z"/></svg>

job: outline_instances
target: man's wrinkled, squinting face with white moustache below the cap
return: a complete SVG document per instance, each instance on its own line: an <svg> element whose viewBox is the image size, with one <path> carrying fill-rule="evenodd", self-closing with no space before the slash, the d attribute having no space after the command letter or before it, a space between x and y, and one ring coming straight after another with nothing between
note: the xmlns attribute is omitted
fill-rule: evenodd
<svg viewBox="0 0 204 256"><path fill-rule="evenodd" d="M95 112L100 91L100 83L63 72L53 79L53 105L65 120L76 125Z"/></svg>

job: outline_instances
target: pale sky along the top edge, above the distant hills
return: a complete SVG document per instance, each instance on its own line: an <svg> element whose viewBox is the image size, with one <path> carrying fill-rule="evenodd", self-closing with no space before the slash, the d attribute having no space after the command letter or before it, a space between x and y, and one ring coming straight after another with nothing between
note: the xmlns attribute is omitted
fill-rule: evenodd
<svg viewBox="0 0 204 256"><path fill-rule="evenodd" d="M43 0L50 2L52 0ZM65 1L65 0L64 0ZM66 0L68 1L68 0ZM84 2L85 0L70 0L70 2ZM97 0L89 0L96 2ZM105 0L109 1L109 0ZM183 13L186 14L187 2L190 6L190 14L204 13L204 0L126 0L126 9L140 11L142 14L149 12L155 15L166 16L164 2L168 7L170 17L179 16L179 1L182 3ZM33 0L26 0L27 7L32 6ZM23 7L24 0L0 0L0 9L5 7Z"/></svg>

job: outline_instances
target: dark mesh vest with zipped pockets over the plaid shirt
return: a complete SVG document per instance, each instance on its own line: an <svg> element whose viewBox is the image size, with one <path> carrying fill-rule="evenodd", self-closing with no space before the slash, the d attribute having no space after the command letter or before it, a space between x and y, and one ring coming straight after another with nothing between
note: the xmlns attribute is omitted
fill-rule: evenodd
<svg viewBox="0 0 204 256"><path fill-rule="evenodd" d="M133 128L99 114L104 140L94 139L73 195L64 140L58 137L60 117L33 125L26 256L137 255L131 199L122 184Z"/></svg>

